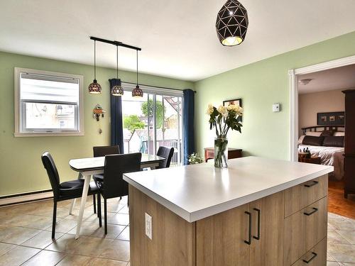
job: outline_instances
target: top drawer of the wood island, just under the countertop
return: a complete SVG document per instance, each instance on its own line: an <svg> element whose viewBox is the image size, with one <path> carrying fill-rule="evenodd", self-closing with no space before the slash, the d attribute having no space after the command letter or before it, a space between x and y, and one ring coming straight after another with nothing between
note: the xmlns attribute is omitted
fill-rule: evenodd
<svg viewBox="0 0 355 266"><path fill-rule="evenodd" d="M285 217L315 203L328 194L328 174L285 190Z"/></svg>

